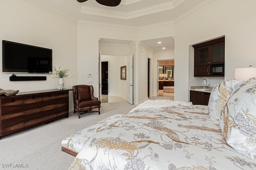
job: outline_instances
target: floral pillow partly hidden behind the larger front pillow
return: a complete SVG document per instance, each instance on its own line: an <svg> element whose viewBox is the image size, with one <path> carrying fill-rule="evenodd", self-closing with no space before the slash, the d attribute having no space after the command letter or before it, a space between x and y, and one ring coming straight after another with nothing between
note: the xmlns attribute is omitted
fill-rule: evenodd
<svg viewBox="0 0 256 170"><path fill-rule="evenodd" d="M208 103L209 117L210 119L219 122L220 114L224 104L228 100L230 94L236 90L244 80L224 80L219 82L210 94Z"/></svg>

